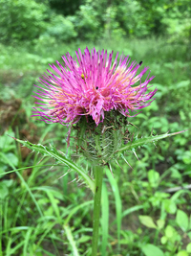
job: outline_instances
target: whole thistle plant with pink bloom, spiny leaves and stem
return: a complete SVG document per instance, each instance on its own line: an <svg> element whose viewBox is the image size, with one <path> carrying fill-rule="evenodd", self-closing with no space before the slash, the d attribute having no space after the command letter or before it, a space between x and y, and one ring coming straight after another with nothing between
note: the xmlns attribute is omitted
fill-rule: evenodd
<svg viewBox="0 0 191 256"><path fill-rule="evenodd" d="M129 117L136 117L141 108L155 100L157 88L151 89L154 76L142 80L149 67L142 61L131 62L129 57L102 50L84 53L78 49L73 58L67 53L63 64L50 64L51 70L35 85L38 107L32 116L46 123L59 123L68 127L67 147L83 155L93 166L93 176L75 164L69 157L45 147L17 140L33 151L41 152L67 165L77 172L94 194L94 221L92 255L97 253L98 226L101 203L103 169L113 159L123 156L124 151L134 151L146 143L165 138L171 134L140 137L131 134ZM138 117L136 117L138 118ZM74 143L71 143L73 131ZM177 132L178 133L178 132ZM124 157L124 156L123 156ZM114 174L115 175L115 174Z"/></svg>

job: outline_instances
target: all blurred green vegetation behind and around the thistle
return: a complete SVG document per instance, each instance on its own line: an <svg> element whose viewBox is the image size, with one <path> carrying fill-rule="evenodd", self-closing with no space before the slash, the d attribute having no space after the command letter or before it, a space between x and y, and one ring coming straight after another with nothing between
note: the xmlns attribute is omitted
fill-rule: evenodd
<svg viewBox="0 0 191 256"><path fill-rule="evenodd" d="M156 101L130 118L140 136L188 129L106 170L99 255L191 255L190 13L190 0L0 0L0 255L91 255L88 189L7 135L66 151L67 128L31 118L32 84L86 46L156 76Z"/></svg>

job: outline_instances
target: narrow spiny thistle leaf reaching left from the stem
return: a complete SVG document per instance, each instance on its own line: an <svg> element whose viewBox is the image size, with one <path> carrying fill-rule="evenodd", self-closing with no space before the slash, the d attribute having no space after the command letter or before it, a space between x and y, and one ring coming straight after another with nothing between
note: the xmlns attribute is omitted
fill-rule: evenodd
<svg viewBox="0 0 191 256"><path fill-rule="evenodd" d="M73 169L78 175L80 175L89 186L89 188L92 190L92 192L95 193L94 180L92 180L89 175L85 173L84 170L80 169L77 165L75 165L73 161L67 159L61 152L57 151L52 145L50 145L50 147L46 147L41 144L32 144L29 141L23 141L16 138L13 139L23 144L24 147L27 147L32 151L40 152L43 154L43 156L51 156L58 162L67 165L69 168Z"/></svg>

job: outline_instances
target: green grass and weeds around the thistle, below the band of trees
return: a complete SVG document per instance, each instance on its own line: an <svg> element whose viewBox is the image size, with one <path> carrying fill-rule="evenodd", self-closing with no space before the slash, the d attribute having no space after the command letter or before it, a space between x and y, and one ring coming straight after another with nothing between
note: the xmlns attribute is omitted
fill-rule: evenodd
<svg viewBox="0 0 191 256"><path fill-rule="evenodd" d="M111 39L96 44L64 44L50 38L33 45L0 45L0 101L4 101L0 102L0 255L77 255L76 248L79 255L91 255L91 192L75 182L74 172L20 148L6 135L51 143L66 151L67 128L31 118L32 84L49 68L48 63L61 61L66 52L74 56L77 48L86 46L142 60L156 76L152 82L159 88L156 101L130 118L138 126L139 136L191 128L191 59L186 45L170 44L165 38ZM22 104L16 107L14 98ZM188 130L159 141L157 147L145 145L136 151L139 160L127 152L124 159L112 164L115 178L105 169L101 255L189 255L190 191L170 193L168 189L190 183L190 135ZM90 171L86 161L81 164Z"/></svg>

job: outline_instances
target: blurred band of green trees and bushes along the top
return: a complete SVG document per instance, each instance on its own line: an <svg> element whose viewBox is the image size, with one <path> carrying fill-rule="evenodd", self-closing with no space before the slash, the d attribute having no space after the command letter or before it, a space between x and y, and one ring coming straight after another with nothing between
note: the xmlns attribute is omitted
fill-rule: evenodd
<svg viewBox="0 0 191 256"><path fill-rule="evenodd" d="M75 0L64 5L60 0L1 0L0 41L42 35L58 41L166 35L171 42L189 44L190 8L189 0Z"/></svg>

